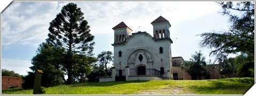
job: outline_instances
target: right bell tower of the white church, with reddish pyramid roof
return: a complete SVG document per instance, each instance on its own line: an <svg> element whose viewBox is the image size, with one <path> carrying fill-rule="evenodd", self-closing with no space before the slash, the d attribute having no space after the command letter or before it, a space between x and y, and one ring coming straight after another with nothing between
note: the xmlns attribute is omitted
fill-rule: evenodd
<svg viewBox="0 0 256 96"><path fill-rule="evenodd" d="M168 20L160 15L160 17L151 22L151 24L153 25L155 39L170 38L169 28L171 25Z"/></svg>

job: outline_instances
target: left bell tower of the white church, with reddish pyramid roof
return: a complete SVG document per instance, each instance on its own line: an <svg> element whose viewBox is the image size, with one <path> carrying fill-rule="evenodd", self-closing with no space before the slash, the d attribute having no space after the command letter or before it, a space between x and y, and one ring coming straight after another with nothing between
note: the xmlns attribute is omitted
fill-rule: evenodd
<svg viewBox="0 0 256 96"><path fill-rule="evenodd" d="M123 21L112 29L114 30L114 33L115 33L114 44L124 43L132 33L132 29L126 26Z"/></svg>

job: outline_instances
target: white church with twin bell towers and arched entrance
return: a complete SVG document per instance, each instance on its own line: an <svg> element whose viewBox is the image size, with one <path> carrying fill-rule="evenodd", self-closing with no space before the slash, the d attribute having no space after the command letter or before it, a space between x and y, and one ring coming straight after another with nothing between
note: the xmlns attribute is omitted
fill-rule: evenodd
<svg viewBox="0 0 256 96"><path fill-rule="evenodd" d="M154 36L146 31L132 33L119 23L114 30L114 68L100 82L174 79L169 21L162 16L151 22Z"/></svg>

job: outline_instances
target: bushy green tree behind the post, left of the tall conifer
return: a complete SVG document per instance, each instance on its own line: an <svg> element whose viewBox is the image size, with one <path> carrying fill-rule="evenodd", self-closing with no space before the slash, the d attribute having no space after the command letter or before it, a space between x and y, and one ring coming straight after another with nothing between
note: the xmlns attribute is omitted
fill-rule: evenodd
<svg viewBox="0 0 256 96"><path fill-rule="evenodd" d="M63 52L63 49L57 49L47 43L40 44L35 57L32 58L31 63L33 66L29 67L32 72L28 72L28 75L24 77L25 82L22 86L25 89L33 88L34 73L37 69L43 71L41 86L51 87L61 85L65 81L64 73L59 67L59 63L63 61Z"/></svg>

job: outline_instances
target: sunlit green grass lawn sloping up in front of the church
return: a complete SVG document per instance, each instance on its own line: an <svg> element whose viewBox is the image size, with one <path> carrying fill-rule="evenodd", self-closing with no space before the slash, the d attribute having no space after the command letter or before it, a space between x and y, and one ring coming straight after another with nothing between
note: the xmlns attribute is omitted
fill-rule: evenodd
<svg viewBox="0 0 256 96"><path fill-rule="evenodd" d="M46 88L44 94L245 94L254 78L181 81L78 83ZM32 94L33 90L2 90L2 94Z"/></svg>

